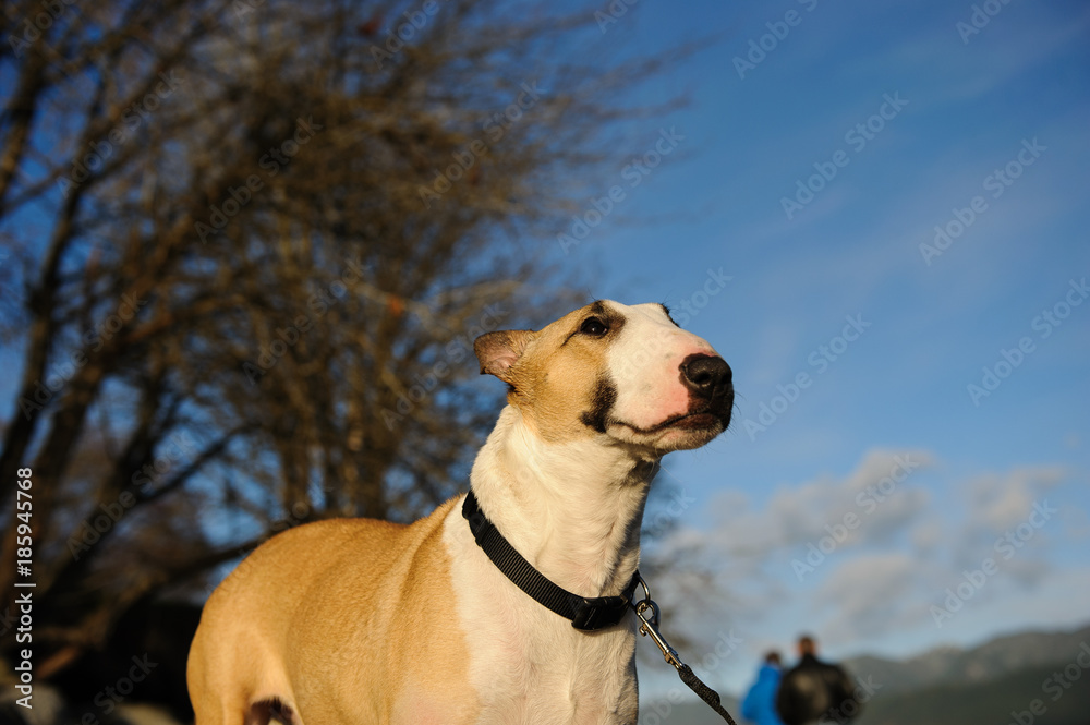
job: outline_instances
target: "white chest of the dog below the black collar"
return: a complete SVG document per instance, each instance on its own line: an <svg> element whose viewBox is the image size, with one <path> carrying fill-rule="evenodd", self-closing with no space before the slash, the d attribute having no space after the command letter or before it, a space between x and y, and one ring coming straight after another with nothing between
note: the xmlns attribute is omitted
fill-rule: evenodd
<svg viewBox="0 0 1090 725"><path fill-rule="evenodd" d="M451 518L447 524L452 618L467 638L477 722L635 723L634 631L625 625L576 630L482 561L464 521Z"/></svg>

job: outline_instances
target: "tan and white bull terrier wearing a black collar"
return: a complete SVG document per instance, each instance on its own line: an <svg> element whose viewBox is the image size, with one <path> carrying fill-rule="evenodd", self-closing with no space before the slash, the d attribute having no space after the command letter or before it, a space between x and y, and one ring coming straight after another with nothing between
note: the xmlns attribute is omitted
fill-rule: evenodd
<svg viewBox="0 0 1090 725"><path fill-rule="evenodd" d="M410 525L332 519L255 549L204 607L196 725L637 722L623 603L647 491L665 454L727 428L730 367L665 305L608 300L474 352L508 404L470 494ZM528 595L489 535L598 620Z"/></svg>

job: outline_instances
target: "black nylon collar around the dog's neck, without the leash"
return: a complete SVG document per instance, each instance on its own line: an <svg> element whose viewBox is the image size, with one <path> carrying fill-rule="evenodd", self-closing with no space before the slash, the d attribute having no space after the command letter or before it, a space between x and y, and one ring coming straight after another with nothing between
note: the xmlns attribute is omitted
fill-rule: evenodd
<svg viewBox="0 0 1090 725"><path fill-rule="evenodd" d="M529 594L542 606L571 620L576 629L595 630L613 627L620 623L632 605L632 595L640 582L640 572L632 575L625 591L619 596L580 596L548 580L545 575L531 566L530 561L504 539L488 517L481 510L476 496L470 491L462 504L462 516L470 522L470 531L477 546L484 549L492 563L508 579Z"/></svg>

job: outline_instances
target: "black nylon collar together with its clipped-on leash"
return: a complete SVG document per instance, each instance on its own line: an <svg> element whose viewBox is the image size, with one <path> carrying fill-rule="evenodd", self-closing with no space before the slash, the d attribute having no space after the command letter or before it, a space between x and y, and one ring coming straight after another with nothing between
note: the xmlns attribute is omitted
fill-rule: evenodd
<svg viewBox="0 0 1090 725"><path fill-rule="evenodd" d="M484 549L496 568L535 602L569 619L576 629L594 631L613 627L620 624L625 614L631 608L641 621L640 633L644 637L650 636L658 645L666 662L678 670L681 681L729 725L738 725L720 704L719 693L701 681L692 668L681 662L677 650L670 647L658 631L658 604L651 599L651 590L639 570L632 575L632 581L619 596L580 596L556 584L526 561L481 510L481 504L473 495L472 488L462 503L462 516L469 521L470 531L477 546ZM633 602L632 596L638 587L643 588L644 596L639 602Z"/></svg>

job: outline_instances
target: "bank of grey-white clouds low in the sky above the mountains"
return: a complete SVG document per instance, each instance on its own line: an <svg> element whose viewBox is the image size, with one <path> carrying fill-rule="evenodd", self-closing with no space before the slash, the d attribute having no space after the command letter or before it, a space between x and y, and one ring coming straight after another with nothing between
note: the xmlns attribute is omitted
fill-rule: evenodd
<svg viewBox="0 0 1090 725"><path fill-rule="evenodd" d="M892 474L901 474L906 460L916 469L898 483ZM811 630L840 652L858 652L875 643L905 648L964 638L977 630L980 615L1007 611L1008 600L1071 589L1070 567L1054 554L1077 540L1079 529L1067 520L1086 517L1077 505L1065 508L1057 488L1069 478L1065 469L1022 467L954 481L944 475L927 451L875 449L847 475L780 486L760 506L736 491L720 494L711 507L711 531L679 530L661 549L716 572L712 588L728 595L688 607L686 618L705 627L729 612L754 639ZM1045 502L1058 512L1031 517ZM849 513L858 518L850 530ZM997 549L1007 532L1016 541ZM843 539L834 541L838 533ZM811 545L826 548L800 580L792 561L806 563ZM942 606L947 588L956 591L965 572L980 570L988 558L996 571L937 627L932 606ZM680 572L678 578L683 581ZM664 579L659 587L673 588L668 575Z"/></svg>

